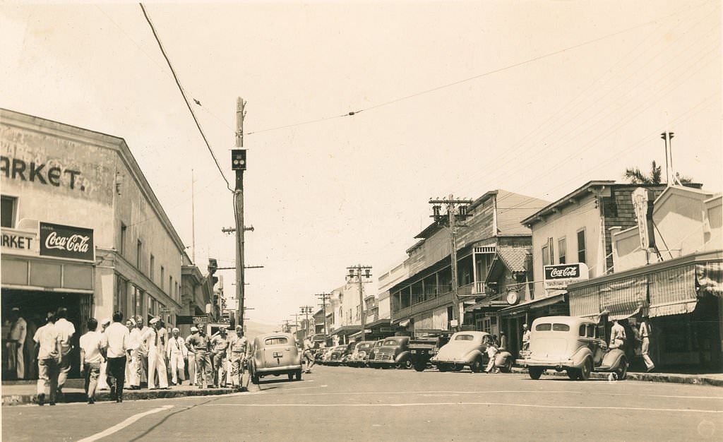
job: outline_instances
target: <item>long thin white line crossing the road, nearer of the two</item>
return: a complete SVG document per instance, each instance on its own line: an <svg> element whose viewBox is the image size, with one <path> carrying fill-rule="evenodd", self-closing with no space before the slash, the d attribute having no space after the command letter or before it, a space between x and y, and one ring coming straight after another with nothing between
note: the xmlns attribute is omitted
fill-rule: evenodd
<svg viewBox="0 0 723 442"><path fill-rule="evenodd" d="M552 409L591 409L614 411L641 411L641 412L674 412L674 413L711 413L720 414L723 410L711 409L685 409L685 408L648 408L648 407L583 407L565 405L536 405L513 404L507 402L416 402L411 404L206 404L201 407L449 407L450 405L469 406L495 406L495 407L529 407Z"/></svg>

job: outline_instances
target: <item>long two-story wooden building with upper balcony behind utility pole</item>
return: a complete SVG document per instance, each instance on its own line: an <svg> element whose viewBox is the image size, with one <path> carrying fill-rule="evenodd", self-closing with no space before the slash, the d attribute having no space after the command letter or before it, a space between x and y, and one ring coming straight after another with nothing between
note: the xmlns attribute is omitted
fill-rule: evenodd
<svg viewBox="0 0 723 442"><path fill-rule="evenodd" d="M492 310L480 305L479 313L473 309L465 315L464 302L476 305L476 301L484 302L500 295L497 276L505 272L497 270L495 260L508 263L503 267L515 281L525 280L521 274L525 272L523 262L529 253L531 237L529 229L520 221L544 205L547 201L492 190L466 206L465 213L455 215L461 221L455 240L459 305L453 302L452 241L448 226L438 222L427 226L416 235L419 242L406 251L408 258L403 264L406 276L390 286L392 325L408 333L419 329L449 330L456 308L461 313L458 318L463 318L461 326L497 331L496 320L484 319ZM495 281L489 281L487 277L493 267L494 272L499 273L492 276ZM492 309L498 307L495 304ZM471 320L475 323L470 323Z"/></svg>

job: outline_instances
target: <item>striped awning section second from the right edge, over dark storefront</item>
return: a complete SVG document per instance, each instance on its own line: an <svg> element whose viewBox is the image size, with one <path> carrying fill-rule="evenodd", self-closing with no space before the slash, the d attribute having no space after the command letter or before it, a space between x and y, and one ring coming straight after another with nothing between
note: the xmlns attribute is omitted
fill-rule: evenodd
<svg viewBox="0 0 723 442"><path fill-rule="evenodd" d="M681 315L696 310L696 265L682 265L651 273L650 310L656 316Z"/></svg>

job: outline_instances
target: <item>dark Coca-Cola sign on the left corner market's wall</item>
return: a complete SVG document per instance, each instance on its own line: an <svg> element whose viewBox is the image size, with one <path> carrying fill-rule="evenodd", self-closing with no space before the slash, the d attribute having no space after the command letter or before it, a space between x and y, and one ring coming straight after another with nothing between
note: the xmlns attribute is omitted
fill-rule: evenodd
<svg viewBox="0 0 723 442"><path fill-rule="evenodd" d="M92 261L93 229L40 223L40 255Z"/></svg>

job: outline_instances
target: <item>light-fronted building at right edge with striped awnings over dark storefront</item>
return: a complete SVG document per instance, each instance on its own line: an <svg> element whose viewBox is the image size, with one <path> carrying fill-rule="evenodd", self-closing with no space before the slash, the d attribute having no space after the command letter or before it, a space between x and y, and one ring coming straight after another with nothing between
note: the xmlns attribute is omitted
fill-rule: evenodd
<svg viewBox="0 0 723 442"><path fill-rule="evenodd" d="M647 318L656 367L721 373L721 194L670 186L654 200L644 190L635 196L640 221L611 229L615 273L570 285L570 315L594 318L608 333L620 321L633 361L631 327Z"/></svg>

